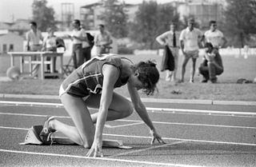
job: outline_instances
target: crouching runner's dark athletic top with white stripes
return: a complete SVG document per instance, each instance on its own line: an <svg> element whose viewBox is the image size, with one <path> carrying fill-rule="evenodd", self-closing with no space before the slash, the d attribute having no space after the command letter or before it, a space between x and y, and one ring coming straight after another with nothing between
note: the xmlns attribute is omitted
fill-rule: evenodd
<svg viewBox="0 0 256 167"><path fill-rule="evenodd" d="M94 57L74 70L64 82L62 82L62 93L69 93L75 97L87 97L93 94L102 93L103 74L102 66L109 64L119 70L118 81L114 88L126 85L128 78L122 78L122 61L117 55L104 54L103 57Z"/></svg>

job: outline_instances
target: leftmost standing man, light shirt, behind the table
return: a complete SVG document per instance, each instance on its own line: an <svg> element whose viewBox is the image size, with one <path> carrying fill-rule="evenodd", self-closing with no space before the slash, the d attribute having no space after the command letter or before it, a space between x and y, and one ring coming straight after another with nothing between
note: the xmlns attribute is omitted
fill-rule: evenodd
<svg viewBox="0 0 256 167"><path fill-rule="evenodd" d="M26 33L26 50L27 51L40 51L42 50L41 42L43 41L42 32L38 30L36 22L30 22L30 30ZM32 61L39 58L33 57ZM32 77L38 78L39 64L32 67Z"/></svg>

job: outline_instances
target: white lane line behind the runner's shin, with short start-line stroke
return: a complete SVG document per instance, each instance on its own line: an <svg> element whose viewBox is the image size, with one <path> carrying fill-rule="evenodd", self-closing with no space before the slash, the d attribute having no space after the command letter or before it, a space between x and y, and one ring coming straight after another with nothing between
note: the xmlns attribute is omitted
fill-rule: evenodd
<svg viewBox="0 0 256 167"><path fill-rule="evenodd" d="M18 116L29 116L29 117L46 117L46 115L38 115L38 114L26 114L26 113L0 113L0 115L18 115ZM70 118L67 116L54 116L58 118ZM126 120L120 119L115 121L129 121L129 122L138 122L131 123L125 125L105 125L106 128L120 128L130 125L140 125L143 124L143 121L137 120ZM235 126L235 125L211 125L211 124L191 124L191 123L180 123L180 122L164 122L164 121L152 121L154 124L165 124L165 125L194 125L194 126L206 126L206 127L218 127L218 128L235 128L235 129L256 129L256 127L251 126Z"/></svg>

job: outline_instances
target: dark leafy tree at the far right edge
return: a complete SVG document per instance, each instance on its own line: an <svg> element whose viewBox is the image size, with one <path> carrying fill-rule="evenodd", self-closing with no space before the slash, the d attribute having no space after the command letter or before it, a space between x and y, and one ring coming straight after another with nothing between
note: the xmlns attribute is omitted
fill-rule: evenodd
<svg viewBox="0 0 256 167"><path fill-rule="evenodd" d="M243 47L250 34L256 34L256 1L227 0L226 35L231 45Z"/></svg>

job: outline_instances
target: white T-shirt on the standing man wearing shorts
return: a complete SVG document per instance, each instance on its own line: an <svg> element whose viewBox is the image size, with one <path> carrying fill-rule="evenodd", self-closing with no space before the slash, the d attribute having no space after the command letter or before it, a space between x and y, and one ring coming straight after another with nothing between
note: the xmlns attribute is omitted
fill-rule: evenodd
<svg viewBox="0 0 256 167"><path fill-rule="evenodd" d="M198 41L202 37L201 30L194 28L190 31L189 27L182 30L179 40L184 42L185 51L199 50Z"/></svg>

